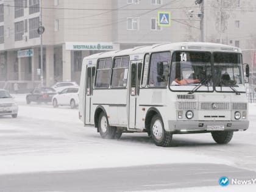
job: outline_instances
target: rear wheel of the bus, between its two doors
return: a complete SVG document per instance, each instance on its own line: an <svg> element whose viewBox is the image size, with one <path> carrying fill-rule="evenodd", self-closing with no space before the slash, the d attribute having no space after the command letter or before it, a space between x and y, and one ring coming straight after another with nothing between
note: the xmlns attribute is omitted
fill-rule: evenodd
<svg viewBox="0 0 256 192"><path fill-rule="evenodd" d="M109 126L107 115L104 112L99 115L98 129L102 138L115 138L116 127Z"/></svg>

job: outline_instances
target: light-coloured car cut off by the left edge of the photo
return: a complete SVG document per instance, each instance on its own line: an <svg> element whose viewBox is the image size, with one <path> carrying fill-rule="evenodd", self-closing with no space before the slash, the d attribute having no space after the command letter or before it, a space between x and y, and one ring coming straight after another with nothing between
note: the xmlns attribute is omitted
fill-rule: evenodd
<svg viewBox="0 0 256 192"><path fill-rule="evenodd" d="M16 118L18 115L18 104L16 104L7 90L0 89L0 116L2 115L12 115L13 118Z"/></svg>

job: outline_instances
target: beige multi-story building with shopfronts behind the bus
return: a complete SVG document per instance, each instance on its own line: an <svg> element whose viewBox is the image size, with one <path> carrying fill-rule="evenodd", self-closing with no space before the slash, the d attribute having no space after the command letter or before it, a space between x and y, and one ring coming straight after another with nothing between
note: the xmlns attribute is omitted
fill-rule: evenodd
<svg viewBox="0 0 256 192"><path fill-rule="evenodd" d="M0 87L12 89L15 82L21 88L40 84L40 12L45 27L43 79L47 86L56 80L79 83L82 59L86 55L145 44L200 39L200 7L192 0L41 2L42 5L40 0L0 0ZM205 41L222 40L222 43L248 48L251 41L246 37L254 38L256 31L251 25L255 13L246 12L245 2L248 1L238 1L240 6L232 7L243 11L233 11L227 18L227 29L222 31L221 38L215 27L221 9L218 4L214 8L212 2L204 0ZM224 10L227 8L223 6L222 12ZM171 12L170 27L157 25L158 11Z"/></svg>

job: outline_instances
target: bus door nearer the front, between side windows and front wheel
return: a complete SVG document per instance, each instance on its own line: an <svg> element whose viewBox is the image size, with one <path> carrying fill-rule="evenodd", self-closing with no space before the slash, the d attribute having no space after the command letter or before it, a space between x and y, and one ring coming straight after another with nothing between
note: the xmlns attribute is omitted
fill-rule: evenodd
<svg viewBox="0 0 256 192"><path fill-rule="evenodd" d="M129 128L138 129L136 127L137 116L137 99L140 94L140 79L141 79L142 60L131 62L130 66L130 104L129 104Z"/></svg>

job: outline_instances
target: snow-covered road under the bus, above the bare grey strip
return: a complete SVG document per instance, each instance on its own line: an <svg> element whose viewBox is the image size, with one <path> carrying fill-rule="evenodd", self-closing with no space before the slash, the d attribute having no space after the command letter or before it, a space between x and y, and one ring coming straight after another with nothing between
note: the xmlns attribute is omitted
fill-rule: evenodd
<svg viewBox="0 0 256 192"><path fill-rule="evenodd" d="M77 109L26 105L24 95L15 98L18 118L0 117L0 175L174 163L256 171L256 104L249 105L249 130L235 132L227 145L216 144L210 134L191 134L174 135L171 148L160 148L146 133L103 140L96 129L82 126Z"/></svg>

